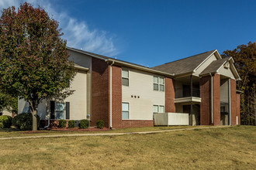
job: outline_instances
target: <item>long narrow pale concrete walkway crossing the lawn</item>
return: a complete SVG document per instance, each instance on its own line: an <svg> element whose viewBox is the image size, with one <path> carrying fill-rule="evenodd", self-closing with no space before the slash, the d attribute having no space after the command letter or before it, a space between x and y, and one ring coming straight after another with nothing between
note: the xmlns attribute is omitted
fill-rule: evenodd
<svg viewBox="0 0 256 170"><path fill-rule="evenodd" d="M35 135L35 136L21 136L21 137L7 137L0 138L1 140L10 139L27 139L27 138L61 138L61 137L80 137L80 136L115 136L115 135L127 135L127 134L157 134L168 131L191 131L195 129L209 129L209 128L228 128L230 126L214 126L214 127L196 127L196 128L184 128L184 129L170 129L162 131L140 131L140 132L124 132L124 133L98 133L98 134L52 134L52 135Z"/></svg>

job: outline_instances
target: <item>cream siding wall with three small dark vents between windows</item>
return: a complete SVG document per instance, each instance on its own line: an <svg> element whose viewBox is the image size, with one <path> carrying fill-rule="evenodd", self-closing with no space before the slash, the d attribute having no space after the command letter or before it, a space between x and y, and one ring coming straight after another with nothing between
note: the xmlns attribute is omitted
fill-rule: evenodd
<svg viewBox="0 0 256 170"><path fill-rule="evenodd" d="M153 73L130 68L127 70L129 87L122 86L122 101L130 104L130 120L153 121L153 105L165 107L165 92L153 90Z"/></svg>

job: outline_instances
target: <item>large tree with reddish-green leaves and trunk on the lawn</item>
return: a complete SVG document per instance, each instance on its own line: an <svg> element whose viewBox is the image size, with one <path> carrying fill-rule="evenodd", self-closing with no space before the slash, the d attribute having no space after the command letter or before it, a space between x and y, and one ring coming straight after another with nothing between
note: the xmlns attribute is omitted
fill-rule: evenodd
<svg viewBox="0 0 256 170"><path fill-rule="evenodd" d="M5 8L0 18L0 89L24 98L33 114L43 99L63 100L73 93L74 63L58 22L29 3Z"/></svg>

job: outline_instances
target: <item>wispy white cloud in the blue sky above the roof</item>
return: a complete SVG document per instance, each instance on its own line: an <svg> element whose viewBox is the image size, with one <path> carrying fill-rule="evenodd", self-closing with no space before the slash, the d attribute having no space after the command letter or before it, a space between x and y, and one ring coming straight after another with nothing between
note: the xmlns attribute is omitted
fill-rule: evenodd
<svg viewBox="0 0 256 170"><path fill-rule="evenodd" d="M24 0L1 0L0 8L9 6L19 7ZM119 53L114 45L113 36L108 32L98 29L90 29L85 21L79 21L68 15L67 12L57 12L50 1L29 0L34 7L45 8L49 15L60 22L60 28L64 32L64 39L67 39L67 46L83 49L92 53L99 53L106 56L115 56Z"/></svg>

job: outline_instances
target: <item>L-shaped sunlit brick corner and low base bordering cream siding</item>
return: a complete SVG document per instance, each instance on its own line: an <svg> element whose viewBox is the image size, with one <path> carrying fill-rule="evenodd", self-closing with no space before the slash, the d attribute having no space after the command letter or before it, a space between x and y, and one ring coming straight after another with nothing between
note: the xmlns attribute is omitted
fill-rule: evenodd
<svg viewBox="0 0 256 170"><path fill-rule="evenodd" d="M112 66L112 128L154 126L154 121L122 120L122 68Z"/></svg>

